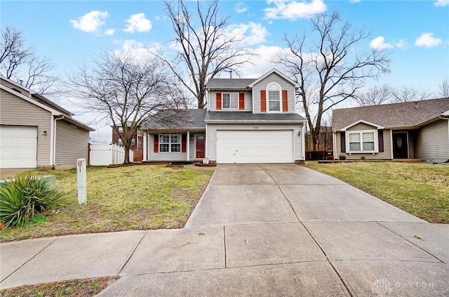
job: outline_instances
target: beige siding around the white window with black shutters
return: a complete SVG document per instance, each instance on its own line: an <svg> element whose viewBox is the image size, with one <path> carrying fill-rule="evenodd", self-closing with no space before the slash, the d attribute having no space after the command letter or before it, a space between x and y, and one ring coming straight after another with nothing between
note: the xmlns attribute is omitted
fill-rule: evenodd
<svg viewBox="0 0 449 297"><path fill-rule="evenodd" d="M361 126L358 126L358 125L365 125L368 128L361 129ZM354 131L356 131L356 130L372 130L373 129L373 126L369 126L366 124L360 123L358 125L356 125L356 126L358 126L358 128L354 129ZM344 132L341 132L341 133L344 133ZM375 137L377 137L377 136L375 136ZM340 156L340 154L342 154L340 132L335 133L335 147L337 148L337 152L334 153L334 157L335 157L335 159L338 159L338 156ZM371 154L343 153L343 154L346 155L346 159L348 159L348 160L358 160L362 156L365 157L367 160L391 160L391 130L384 130L384 151L383 152L378 152L378 153L375 153L374 155L372 153Z"/></svg>

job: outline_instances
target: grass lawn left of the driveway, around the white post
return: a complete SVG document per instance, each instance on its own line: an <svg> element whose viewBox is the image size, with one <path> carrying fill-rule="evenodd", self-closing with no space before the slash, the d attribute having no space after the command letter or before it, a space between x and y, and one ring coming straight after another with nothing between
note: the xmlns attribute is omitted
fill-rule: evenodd
<svg viewBox="0 0 449 297"><path fill-rule="evenodd" d="M76 170L55 175L67 202L24 227L0 231L1 242L58 235L183 227L213 171L157 166L87 170L87 204L78 205Z"/></svg>

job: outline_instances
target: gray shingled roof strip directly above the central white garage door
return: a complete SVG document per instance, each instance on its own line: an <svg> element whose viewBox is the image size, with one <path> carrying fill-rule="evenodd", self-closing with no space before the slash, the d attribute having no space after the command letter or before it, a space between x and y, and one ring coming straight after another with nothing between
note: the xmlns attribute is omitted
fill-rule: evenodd
<svg viewBox="0 0 449 297"><path fill-rule="evenodd" d="M208 112L206 123L222 124L301 124L306 121L299 114L253 112Z"/></svg>

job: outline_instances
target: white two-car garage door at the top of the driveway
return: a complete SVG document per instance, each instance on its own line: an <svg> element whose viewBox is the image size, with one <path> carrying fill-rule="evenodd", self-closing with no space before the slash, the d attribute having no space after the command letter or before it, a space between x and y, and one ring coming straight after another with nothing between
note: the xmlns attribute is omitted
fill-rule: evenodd
<svg viewBox="0 0 449 297"><path fill-rule="evenodd" d="M217 131L217 163L293 163L293 131Z"/></svg>

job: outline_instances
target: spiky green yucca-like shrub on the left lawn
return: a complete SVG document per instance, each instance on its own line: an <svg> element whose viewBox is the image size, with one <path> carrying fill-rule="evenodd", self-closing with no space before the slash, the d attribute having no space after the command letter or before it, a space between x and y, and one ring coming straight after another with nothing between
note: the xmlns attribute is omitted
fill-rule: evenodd
<svg viewBox="0 0 449 297"><path fill-rule="evenodd" d="M64 197L52 190L47 180L15 176L0 186L0 222L4 227L23 226L36 214L60 205Z"/></svg>

